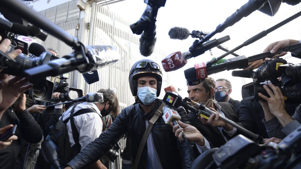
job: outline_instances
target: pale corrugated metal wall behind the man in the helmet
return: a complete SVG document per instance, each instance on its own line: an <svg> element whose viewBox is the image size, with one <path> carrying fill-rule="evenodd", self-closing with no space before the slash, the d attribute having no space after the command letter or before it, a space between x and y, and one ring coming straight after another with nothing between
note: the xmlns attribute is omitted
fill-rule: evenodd
<svg viewBox="0 0 301 169"><path fill-rule="evenodd" d="M82 24L83 16L80 16L76 2L77 0L66 2L40 11L39 13L81 40L82 31L86 25ZM135 102L128 82L130 68L133 63L146 57L141 56L139 53L139 36L132 33L129 28L131 24L129 21L96 3L92 4L91 10L88 44L85 45L112 45L121 55L121 60L112 66L99 69L100 81L88 85L87 91L95 92L101 88L116 88L120 106L123 109ZM77 28L78 24L79 27ZM61 56L72 52L72 49L68 45L52 35L48 35L48 38L44 42L39 39L37 40L44 47L56 48ZM153 60L157 61L159 65L161 65L161 59L167 55L166 51L160 48L160 43L161 41L158 39L154 54L152 55ZM85 90L85 81L79 72L70 72L69 77L70 79L67 82L70 86L80 88L83 91ZM163 70L163 88L159 98L163 98L165 93L164 87L168 85L170 78Z"/></svg>

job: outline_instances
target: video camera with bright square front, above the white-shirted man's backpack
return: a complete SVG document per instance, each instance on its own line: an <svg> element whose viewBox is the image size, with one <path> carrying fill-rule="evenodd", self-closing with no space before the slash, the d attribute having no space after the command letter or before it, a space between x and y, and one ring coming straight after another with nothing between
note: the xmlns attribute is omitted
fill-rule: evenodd
<svg viewBox="0 0 301 169"><path fill-rule="evenodd" d="M64 73L63 75L60 75L59 81L54 82L54 89L53 92L59 92L59 98L52 97L51 102L52 103L58 103L58 102L65 102L65 101L71 101L74 99L77 99L79 97L82 97L83 92L81 89L71 88L68 87L68 83L66 83L66 80L69 78L69 73Z"/></svg>

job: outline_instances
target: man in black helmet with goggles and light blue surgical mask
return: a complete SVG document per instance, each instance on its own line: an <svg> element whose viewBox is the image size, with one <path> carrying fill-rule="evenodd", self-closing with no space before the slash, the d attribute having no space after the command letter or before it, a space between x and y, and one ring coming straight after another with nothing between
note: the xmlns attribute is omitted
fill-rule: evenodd
<svg viewBox="0 0 301 169"><path fill-rule="evenodd" d="M171 125L165 124L162 118L162 107L165 104L157 99L162 86L160 66L149 59L134 63L129 73L129 84L132 95L138 102L123 109L111 126L69 161L66 168L88 167L115 145L125 133L133 169L191 167L192 158L187 143L175 137ZM181 121L188 123L185 109L179 107L177 111L182 117ZM150 133L145 134L145 131ZM141 144L143 142L144 144ZM195 144L191 144L193 145ZM192 149L196 150L194 147Z"/></svg>

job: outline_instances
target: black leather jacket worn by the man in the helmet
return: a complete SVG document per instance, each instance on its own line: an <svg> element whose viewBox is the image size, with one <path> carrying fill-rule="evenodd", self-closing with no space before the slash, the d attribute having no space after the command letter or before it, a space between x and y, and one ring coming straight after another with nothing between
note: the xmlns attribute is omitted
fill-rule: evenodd
<svg viewBox="0 0 301 169"><path fill-rule="evenodd" d="M126 132L128 132L127 139L130 139L130 151L133 165L141 139L146 130L145 119L150 120L161 103L162 101L158 99L151 112L146 115L141 111L139 104L126 107L116 117L110 128L103 132L95 139L95 141L86 146L85 149L69 161L67 165L71 166L73 169L89 167L90 164L102 157ZM185 109L180 107L177 111L182 116L181 121L189 123ZM184 117L184 115L186 116ZM179 141L172 132L171 125L165 124L161 117L158 118L151 132L154 146L162 167L164 169L190 168L192 161L186 142ZM194 143L190 142L190 145L193 146ZM195 154L195 146L192 147L192 149ZM145 145L142 151L138 165L139 169L146 168L146 158L147 145Z"/></svg>

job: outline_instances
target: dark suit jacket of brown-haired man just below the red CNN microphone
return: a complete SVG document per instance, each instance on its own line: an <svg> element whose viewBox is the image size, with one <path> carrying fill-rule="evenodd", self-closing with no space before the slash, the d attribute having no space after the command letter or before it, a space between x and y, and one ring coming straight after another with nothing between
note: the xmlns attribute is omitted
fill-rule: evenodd
<svg viewBox="0 0 301 169"><path fill-rule="evenodd" d="M228 119L237 122L238 117L234 112L233 106L228 102L219 102L217 103L221 106L221 110L225 113ZM210 143L211 148L213 147L220 147L225 144L225 139L223 138L222 134L219 132L217 127L212 127L207 124L203 124L201 121L197 119L197 115L193 112L188 114L189 120L191 121L192 125L197 128L203 134L204 137ZM225 137L228 137L227 134L224 134Z"/></svg>

